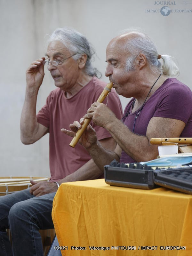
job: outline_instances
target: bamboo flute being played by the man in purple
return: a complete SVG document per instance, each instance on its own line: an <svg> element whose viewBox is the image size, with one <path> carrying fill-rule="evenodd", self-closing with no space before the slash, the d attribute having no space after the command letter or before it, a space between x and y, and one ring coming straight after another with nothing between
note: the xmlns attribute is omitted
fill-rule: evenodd
<svg viewBox="0 0 192 256"><path fill-rule="evenodd" d="M111 91L113 87L113 83L109 83L106 85L106 87L104 88L103 92L101 93L101 95L99 96L99 99L97 100L97 102L102 103L103 100L105 100L105 98L107 97L107 95L109 94L109 92ZM73 138L73 140L71 140L71 143L69 144L69 146L71 146L72 148L75 148L77 142L79 141L79 139L81 138L82 134L84 133L84 131L86 130L87 126L89 125L89 123L91 122L91 118L86 118L84 120L84 123L82 124L82 127L80 130L78 130L76 132L75 137Z"/></svg>

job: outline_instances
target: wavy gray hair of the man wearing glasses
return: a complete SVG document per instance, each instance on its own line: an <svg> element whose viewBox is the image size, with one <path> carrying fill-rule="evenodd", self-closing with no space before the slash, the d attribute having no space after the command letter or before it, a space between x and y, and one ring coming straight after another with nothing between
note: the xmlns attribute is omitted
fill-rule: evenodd
<svg viewBox="0 0 192 256"><path fill-rule="evenodd" d="M50 36L48 43L55 40L63 43L71 54L77 53L72 57L74 60L79 59L85 53L87 55L87 61L84 72L89 76L101 76L97 68L93 68L92 66L91 59L95 50L85 36L72 28L57 28Z"/></svg>

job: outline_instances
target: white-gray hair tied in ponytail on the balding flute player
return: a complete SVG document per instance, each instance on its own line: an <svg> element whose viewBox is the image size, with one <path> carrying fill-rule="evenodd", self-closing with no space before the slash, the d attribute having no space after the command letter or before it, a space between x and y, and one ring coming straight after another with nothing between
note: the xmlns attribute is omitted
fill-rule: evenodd
<svg viewBox="0 0 192 256"><path fill-rule="evenodd" d="M134 32L133 32L134 33ZM178 76L179 68L169 55L161 55L163 64L158 60L156 45L143 33L134 33L135 36L128 39L125 49L131 52L131 57L127 59L126 71L134 70L134 61L138 54L143 53L153 71L159 71L165 76Z"/></svg>

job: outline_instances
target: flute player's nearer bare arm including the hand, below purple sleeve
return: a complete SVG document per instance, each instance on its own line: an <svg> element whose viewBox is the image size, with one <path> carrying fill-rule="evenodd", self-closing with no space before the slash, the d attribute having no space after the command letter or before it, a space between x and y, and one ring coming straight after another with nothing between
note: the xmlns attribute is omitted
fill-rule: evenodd
<svg viewBox="0 0 192 256"><path fill-rule="evenodd" d="M107 129L118 146L137 162L157 157L157 145L150 144L151 138L179 137L185 127L183 121L154 116L150 119L147 129L142 131L146 135L138 135L118 120L105 104L98 102L91 105L84 118L92 118L95 124ZM137 125L141 125L138 122Z"/></svg>

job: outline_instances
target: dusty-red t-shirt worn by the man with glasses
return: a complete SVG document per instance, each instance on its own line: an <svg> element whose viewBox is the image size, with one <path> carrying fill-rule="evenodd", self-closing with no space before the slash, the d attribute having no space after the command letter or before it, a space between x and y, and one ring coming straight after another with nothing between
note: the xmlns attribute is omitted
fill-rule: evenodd
<svg viewBox="0 0 192 256"><path fill-rule="evenodd" d="M75 172L91 159L91 156L77 143L75 148L69 146L72 137L61 132L61 128L70 130L69 124L83 117L91 104L98 100L106 83L93 77L76 95L67 99L64 91L56 88L47 97L45 106L37 114L37 122L49 128L49 164L51 180L63 179ZM106 104L107 98L103 103ZM108 95L107 106L122 118L122 107L115 90ZM111 137L110 133L91 122L96 130L98 140Z"/></svg>

